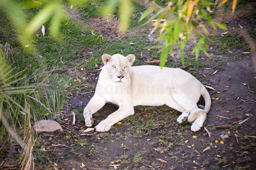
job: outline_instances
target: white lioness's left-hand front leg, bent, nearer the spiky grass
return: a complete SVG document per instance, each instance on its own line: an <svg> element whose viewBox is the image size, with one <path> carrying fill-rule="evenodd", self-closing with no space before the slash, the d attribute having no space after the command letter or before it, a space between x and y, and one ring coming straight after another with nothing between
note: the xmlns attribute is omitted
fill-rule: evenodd
<svg viewBox="0 0 256 170"><path fill-rule="evenodd" d="M93 114L102 108L106 103L103 97L94 95L89 101L85 109L83 109L83 117L85 117L85 125L87 127L93 126Z"/></svg>

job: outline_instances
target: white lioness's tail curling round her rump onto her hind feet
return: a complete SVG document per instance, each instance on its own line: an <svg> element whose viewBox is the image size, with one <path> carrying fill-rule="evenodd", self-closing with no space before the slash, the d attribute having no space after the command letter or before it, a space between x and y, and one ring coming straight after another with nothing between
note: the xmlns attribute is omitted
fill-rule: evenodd
<svg viewBox="0 0 256 170"><path fill-rule="evenodd" d="M206 115L211 108L211 97L203 84L201 86L201 95L204 98L205 107L204 107L204 109L195 109L194 111L192 111L187 118L188 122L194 122L196 120L196 118L198 118L200 113L205 113L205 115Z"/></svg>

